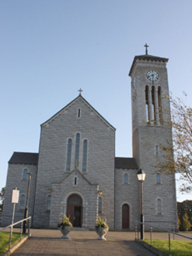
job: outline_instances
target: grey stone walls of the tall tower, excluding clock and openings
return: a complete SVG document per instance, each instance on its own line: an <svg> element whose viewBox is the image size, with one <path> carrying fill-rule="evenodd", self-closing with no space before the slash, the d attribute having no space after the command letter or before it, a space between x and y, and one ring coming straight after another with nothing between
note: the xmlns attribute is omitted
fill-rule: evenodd
<svg viewBox="0 0 192 256"><path fill-rule="evenodd" d="M146 77L148 70L155 70L159 73L159 79L155 82L149 81ZM160 183L156 183L156 172L159 161L164 161L161 144L166 144L166 140L171 141L172 133L166 127L166 119L170 118L168 79L166 62L137 60L132 78L135 77L135 87L132 91L132 119L133 119L133 157L138 163L138 167L146 173L144 182L144 215L146 222L152 222L154 226L164 226L166 229L173 229L176 220L176 187L175 177L172 175L160 175ZM147 123L145 108L145 87L148 85L149 91L152 86L155 90L161 87L162 101L162 123ZM134 97L134 91L137 97ZM135 110L136 109L136 110ZM138 119L135 122L134 119ZM158 146L158 154L155 147ZM157 211L157 200L161 200L161 214Z"/></svg>

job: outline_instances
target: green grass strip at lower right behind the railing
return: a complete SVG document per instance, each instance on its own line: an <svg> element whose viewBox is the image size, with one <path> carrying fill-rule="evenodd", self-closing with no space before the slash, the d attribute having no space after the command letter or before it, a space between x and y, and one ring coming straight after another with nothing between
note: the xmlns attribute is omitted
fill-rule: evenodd
<svg viewBox="0 0 192 256"><path fill-rule="evenodd" d="M150 239L145 239L150 244ZM152 247L169 255L169 240L152 240ZM192 241L171 240L171 256L191 256Z"/></svg>

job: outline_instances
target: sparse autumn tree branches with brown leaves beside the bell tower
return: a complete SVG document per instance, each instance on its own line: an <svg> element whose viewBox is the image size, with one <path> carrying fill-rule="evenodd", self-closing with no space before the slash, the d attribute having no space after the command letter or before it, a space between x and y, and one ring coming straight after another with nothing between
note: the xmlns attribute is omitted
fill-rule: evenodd
<svg viewBox="0 0 192 256"><path fill-rule="evenodd" d="M187 96L187 94L184 94ZM169 96L165 96L169 97ZM192 108L180 98L169 97L171 119L164 125L173 132L173 140L161 144L165 161L159 162L159 172L180 173L181 191L192 191Z"/></svg>

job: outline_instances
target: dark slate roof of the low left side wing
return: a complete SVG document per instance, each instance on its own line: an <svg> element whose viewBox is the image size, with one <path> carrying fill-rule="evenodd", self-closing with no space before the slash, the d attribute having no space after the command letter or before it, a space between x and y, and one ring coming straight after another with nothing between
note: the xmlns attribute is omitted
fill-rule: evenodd
<svg viewBox="0 0 192 256"><path fill-rule="evenodd" d="M38 157L38 153L14 152L9 164L37 165Z"/></svg>

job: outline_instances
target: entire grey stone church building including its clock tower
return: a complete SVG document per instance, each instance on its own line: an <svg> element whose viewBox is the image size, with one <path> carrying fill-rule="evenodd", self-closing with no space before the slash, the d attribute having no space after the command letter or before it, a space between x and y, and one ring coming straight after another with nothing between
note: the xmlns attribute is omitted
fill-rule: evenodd
<svg viewBox="0 0 192 256"><path fill-rule="evenodd" d="M138 169L146 173L143 194L145 222L171 228L176 222L175 177L157 172L163 160L160 144L171 140L166 63L148 55L134 57L131 76L133 157L115 157L115 128L79 96L41 125L39 153L14 152L9 160L2 215L12 220L12 189L19 190L15 222L26 208L28 172L32 226L57 228L59 215L72 224L94 229L97 216L110 229L134 230L140 216ZM161 222L160 224L156 222Z"/></svg>

